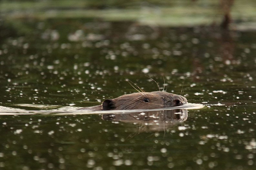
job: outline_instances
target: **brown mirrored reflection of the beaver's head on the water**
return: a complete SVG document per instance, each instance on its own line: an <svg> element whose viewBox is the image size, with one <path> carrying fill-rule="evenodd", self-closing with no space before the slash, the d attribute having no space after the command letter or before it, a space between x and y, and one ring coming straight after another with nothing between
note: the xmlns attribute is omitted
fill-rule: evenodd
<svg viewBox="0 0 256 170"><path fill-rule="evenodd" d="M180 124L188 118L187 109L173 109L162 111L143 111L124 114L103 114L102 119L136 123L139 131L162 131L173 125ZM132 131L137 131L136 127Z"/></svg>

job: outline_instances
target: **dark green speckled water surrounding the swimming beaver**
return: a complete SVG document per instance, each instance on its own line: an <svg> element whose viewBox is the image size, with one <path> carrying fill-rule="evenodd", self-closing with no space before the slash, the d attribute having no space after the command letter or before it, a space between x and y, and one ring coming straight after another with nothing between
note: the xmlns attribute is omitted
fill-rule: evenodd
<svg viewBox="0 0 256 170"><path fill-rule="evenodd" d="M206 104L161 123L2 114L1 169L255 168L255 31L28 18L1 21L0 34L1 106L94 106L137 92L126 79L158 90L146 76Z"/></svg>

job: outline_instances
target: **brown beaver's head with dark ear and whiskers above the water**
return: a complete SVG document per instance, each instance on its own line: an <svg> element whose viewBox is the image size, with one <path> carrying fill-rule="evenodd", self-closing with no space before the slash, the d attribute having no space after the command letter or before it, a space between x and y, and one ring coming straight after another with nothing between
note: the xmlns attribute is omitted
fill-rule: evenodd
<svg viewBox="0 0 256 170"><path fill-rule="evenodd" d="M183 96L153 91L125 94L115 99L106 99L101 105L81 109L88 111L159 109L180 106L184 103L187 103L187 99Z"/></svg>

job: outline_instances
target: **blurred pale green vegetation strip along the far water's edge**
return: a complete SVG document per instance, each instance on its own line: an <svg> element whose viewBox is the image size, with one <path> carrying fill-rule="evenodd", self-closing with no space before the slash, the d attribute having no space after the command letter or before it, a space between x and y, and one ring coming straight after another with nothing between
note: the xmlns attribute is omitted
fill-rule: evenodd
<svg viewBox="0 0 256 170"><path fill-rule="evenodd" d="M231 10L229 7L231 6ZM101 18L165 26L220 25L230 10L232 29L255 29L254 0L1 0L1 18Z"/></svg>

